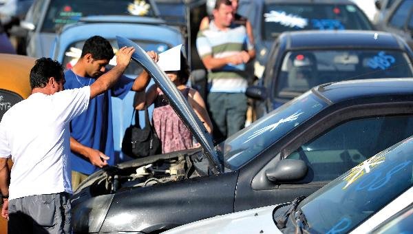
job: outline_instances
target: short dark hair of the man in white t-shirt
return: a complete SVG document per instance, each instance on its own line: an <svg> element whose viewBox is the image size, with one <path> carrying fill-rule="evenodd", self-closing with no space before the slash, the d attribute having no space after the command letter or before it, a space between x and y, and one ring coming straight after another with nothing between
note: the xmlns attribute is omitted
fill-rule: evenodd
<svg viewBox="0 0 413 234"><path fill-rule="evenodd" d="M63 66L52 58L39 58L30 70L30 87L45 87L50 77L56 81L63 79Z"/></svg>

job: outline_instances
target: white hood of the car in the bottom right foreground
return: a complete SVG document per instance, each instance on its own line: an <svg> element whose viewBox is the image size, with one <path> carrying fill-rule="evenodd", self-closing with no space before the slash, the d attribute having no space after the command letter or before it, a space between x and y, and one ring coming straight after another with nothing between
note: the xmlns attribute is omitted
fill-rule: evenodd
<svg viewBox="0 0 413 234"><path fill-rule="evenodd" d="M275 226L273 211L277 205L218 215L173 228L164 234L178 233L282 233ZM251 225L253 224L253 225ZM257 225L258 224L258 225Z"/></svg>

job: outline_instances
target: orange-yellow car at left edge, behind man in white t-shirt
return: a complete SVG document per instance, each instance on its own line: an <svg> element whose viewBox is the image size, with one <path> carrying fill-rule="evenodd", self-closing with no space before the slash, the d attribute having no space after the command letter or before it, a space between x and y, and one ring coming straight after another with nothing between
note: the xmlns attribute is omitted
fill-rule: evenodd
<svg viewBox="0 0 413 234"><path fill-rule="evenodd" d="M0 121L14 104L32 94L30 70L34 58L16 54L0 54ZM9 160L9 168L12 161ZM3 203L0 193L0 202ZM0 218L0 233L7 233L7 221Z"/></svg>

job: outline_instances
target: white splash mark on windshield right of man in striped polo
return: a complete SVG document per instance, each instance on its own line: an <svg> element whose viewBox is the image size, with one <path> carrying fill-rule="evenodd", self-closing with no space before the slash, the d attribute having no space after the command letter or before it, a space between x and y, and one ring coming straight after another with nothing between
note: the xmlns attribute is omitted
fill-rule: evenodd
<svg viewBox="0 0 413 234"><path fill-rule="evenodd" d="M274 22L290 28L305 28L308 25L308 19L304 19L294 14L286 14L286 12L278 12L271 10L264 14L266 22Z"/></svg>

